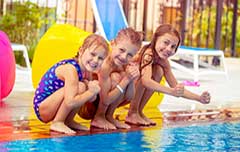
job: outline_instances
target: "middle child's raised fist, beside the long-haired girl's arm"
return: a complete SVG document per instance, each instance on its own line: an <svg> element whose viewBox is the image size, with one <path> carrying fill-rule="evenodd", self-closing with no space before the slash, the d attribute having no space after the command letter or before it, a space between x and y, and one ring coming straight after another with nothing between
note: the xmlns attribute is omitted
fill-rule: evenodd
<svg viewBox="0 0 240 152"><path fill-rule="evenodd" d="M140 76L138 64L130 63L126 68L126 76L130 81L138 78Z"/></svg>

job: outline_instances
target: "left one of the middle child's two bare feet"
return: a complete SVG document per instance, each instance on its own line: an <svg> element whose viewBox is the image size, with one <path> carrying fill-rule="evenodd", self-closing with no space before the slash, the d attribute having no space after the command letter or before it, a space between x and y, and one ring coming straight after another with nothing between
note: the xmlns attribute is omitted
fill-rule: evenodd
<svg viewBox="0 0 240 152"><path fill-rule="evenodd" d="M91 122L91 126L106 130L117 129L112 123L110 123L109 121L102 117L95 117Z"/></svg>

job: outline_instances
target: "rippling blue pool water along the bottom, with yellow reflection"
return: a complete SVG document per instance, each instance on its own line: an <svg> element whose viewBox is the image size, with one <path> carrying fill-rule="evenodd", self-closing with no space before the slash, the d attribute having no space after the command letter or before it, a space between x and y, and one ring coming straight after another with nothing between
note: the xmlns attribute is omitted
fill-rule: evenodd
<svg viewBox="0 0 240 152"><path fill-rule="evenodd" d="M0 151L240 151L240 122L0 143Z"/></svg>

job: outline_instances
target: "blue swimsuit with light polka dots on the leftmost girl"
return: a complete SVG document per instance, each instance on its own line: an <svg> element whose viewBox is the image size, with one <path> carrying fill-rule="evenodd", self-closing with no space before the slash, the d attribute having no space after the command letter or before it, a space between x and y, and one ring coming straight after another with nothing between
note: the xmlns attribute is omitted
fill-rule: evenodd
<svg viewBox="0 0 240 152"><path fill-rule="evenodd" d="M39 105L40 103L45 100L48 96L53 94L58 89L62 88L64 86L64 81L60 80L55 73L55 69L63 64L72 64L75 66L79 81L82 80L82 72L80 69L80 66L74 59L68 59L68 60L62 60L55 65L53 65L42 77L40 83L38 84L38 87L35 91L35 96L33 99L33 105L35 113L39 120L42 121L40 114L39 114Z"/></svg>

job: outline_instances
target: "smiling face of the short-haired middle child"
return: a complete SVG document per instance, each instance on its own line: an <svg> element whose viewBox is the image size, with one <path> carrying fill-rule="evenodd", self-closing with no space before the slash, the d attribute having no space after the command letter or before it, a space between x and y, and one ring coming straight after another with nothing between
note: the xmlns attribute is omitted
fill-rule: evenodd
<svg viewBox="0 0 240 152"><path fill-rule="evenodd" d="M112 44L112 59L117 66L123 66L130 62L137 53L139 47L130 40L118 41Z"/></svg>

